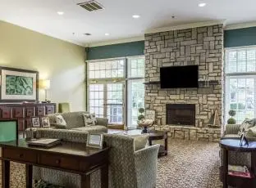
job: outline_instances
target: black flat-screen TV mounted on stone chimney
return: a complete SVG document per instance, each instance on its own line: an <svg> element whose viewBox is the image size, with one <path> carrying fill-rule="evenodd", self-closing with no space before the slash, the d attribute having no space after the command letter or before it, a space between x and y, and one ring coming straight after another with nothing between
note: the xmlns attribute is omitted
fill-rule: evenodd
<svg viewBox="0 0 256 188"><path fill-rule="evenodd" d="M199 66L170 66L160 68L161 88L199 87Z"/></svg>

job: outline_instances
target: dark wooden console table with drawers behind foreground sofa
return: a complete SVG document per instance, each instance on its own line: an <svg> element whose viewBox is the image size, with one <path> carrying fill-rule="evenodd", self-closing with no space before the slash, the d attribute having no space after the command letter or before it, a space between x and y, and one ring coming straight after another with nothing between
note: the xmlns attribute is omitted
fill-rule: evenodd
<svg viewBox="0 0 256 188"><path fill-rule="evenodd" d="M101 169L101 187L108 187L108 150L88 148L85 144L62 142L50 149L30 147L24 139L0 142L2 188L10 187L10 161L25 163L26 187L32 188L32 167L53 168L81 176L81 188L90 187L90 174Z"/></svg>

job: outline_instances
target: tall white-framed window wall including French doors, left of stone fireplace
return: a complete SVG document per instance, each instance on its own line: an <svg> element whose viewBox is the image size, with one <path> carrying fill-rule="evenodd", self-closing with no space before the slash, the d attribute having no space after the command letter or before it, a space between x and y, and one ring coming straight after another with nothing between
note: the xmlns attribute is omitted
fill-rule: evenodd
<svg viewBox="0 0 256 188"><path fill-rule="evenodd" d="M111 124L125 123L127 119L126 125L134 128L138 110L144 107L144 57L87 63L90 112L106 117Z"/></svg>

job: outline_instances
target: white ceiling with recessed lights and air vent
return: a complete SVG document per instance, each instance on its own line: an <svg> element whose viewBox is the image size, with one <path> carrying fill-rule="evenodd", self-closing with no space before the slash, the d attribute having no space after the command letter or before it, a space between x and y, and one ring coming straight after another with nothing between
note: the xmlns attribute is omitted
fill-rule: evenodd
<svg viewBox="0 0 256 188"><path fill-rule="evenodd" d="M97 0L105 9L93 12L76 5L85 1L0 0L0 20L82 46L135 38L159 27L208 20L226 20L226 25L256 20L255 0ZM207 5L199 7L199 2ZM59 16L57 11L64 14Z"/></svg>

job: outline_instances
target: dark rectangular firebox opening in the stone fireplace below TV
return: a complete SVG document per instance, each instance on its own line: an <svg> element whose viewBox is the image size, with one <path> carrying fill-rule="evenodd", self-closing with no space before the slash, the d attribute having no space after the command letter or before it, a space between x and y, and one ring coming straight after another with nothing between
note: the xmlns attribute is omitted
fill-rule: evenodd
<svg viewBox="0 0 256 188"><path fill-rule="evenodd" d="M167 124L195 126L195 105L167 104Z"/></svg>

